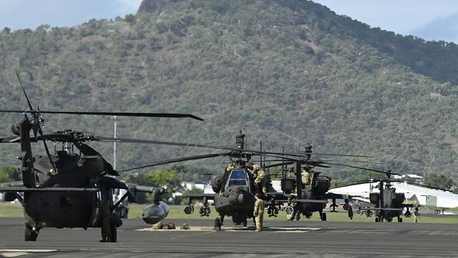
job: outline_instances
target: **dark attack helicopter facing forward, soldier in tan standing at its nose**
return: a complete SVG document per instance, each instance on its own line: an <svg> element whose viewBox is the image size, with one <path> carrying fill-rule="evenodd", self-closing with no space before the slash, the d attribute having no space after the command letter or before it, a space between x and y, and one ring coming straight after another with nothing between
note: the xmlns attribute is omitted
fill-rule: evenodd
<svg viewBox="0 0 458 258"><path fill-rule="evenodd" d="M214 147L216 149L227 149L230 152L219 154L204 154L198 156L188 156L179 159L171 159L159 161L155 164L140 166L136 168L128 168L123 171L130 171L138 168L146 168L151 166L159 166L162 164L171 164L180 161L188 161L195 159L207 159L216 156L228 156L232 161L233 169L226 170L223 175L211 177L211 188L214 194L190 194L187 195L188 205L185 207L186 214L192 214L194 207L192 201L194 199L202 199L204 206L199 209L201 216L209 216L210 207L209 200L214 200L215 209L219 217L215 220L215 228L221 229L221 225L225 216L231 216L235 225L247 226L247 220L253 217L254 195L259 192L259 186L254 183L254 177L249 171L249 160L253 155L259 155L260 152L249 151L245 149L245 135L240 133L236 136L237 149ZM121 142L132 142L128 139L120 139ZM210 147L210 145L190 145L178 142L156 142L156 141L139 141L143 143L166 144L178 146L193 146L193 147ZM213 148L213 147L211 147Z"/></svg>

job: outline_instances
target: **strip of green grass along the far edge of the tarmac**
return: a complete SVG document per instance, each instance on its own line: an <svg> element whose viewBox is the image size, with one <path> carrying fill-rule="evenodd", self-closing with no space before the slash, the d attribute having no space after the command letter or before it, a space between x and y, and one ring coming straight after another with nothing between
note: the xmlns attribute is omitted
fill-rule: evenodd
<svg viewBox="0 0 458 258"><path fill-rule="evenodd" d="M130 204L129 205L129 219L140 218L142 216L142 211L146 208L148 204ZM211 206L211 214L209 217L202 217L199 215L199 209L194 209L194 213L187 215L183 211L184 205L171 205L170 211L168 212L167 219L210 219L213 220L216 218L216 211L213 206ZM352 222L373 222L375 218L366 217L365 215L359 216L354 213L353 219L349 220L346 211L340 212L329 212L326 211L328 221L352 221ZM0 203L0 217L23 217L23 207L20 204L16 203ZM267 213L264 214L265 220L286 220L286 214L283 211L278 213L277 217L269 217ZM301 219L307 220L307 219ZM315 212L311 216L311 221L320 221L318 212ZM402 216L404 223L413 223L414 218L405 218ZM394 221L397 221L396 219ZM458 215L436 215L436 214L421 214L419 218L419 223L458 223Z"/></svg>

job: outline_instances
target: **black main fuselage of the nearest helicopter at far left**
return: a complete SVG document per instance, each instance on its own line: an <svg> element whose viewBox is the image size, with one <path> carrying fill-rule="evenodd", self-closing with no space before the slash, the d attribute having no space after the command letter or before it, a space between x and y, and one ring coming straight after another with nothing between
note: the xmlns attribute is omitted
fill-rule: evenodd
<svg viewBox="0 0 458 258"><path fill-rule="evenodd" d="M30 191L24 193L23 207L28 226L56 228L99 227L101 195L113 206L111 186L106 185L99 156L59 152L53 156L57 172L47 157L35 156L37 188L80 188L78 191ZM94 189L97 189L94 190Z"/></svg>

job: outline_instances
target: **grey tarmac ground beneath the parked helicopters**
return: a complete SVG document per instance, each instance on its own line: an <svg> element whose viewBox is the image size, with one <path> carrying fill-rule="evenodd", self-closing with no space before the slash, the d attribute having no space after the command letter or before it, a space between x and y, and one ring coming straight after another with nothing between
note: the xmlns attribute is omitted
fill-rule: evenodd
<svg viewBox="0 0 458 258"><path fill-rule="evenodd" d="M458 224L264 221L264 232L213 220L173 220L190 231L153 231L124 220L118 242L99 243L100 230L44 228L24 242L23 219L0 218L0 257L458 257Z"/></svg>

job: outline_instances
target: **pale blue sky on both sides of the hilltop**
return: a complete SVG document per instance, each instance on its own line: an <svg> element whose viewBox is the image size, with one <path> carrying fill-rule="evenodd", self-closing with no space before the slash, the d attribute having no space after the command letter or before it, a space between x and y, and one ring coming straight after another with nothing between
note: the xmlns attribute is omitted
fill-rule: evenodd
<svg viewBox="0 0 458 258"><path fill-rule="evenodd" d="M73 26L135 13L142 0L0 0L0 28ZM211 0L210 0L211 1ZM230 0L228 0L230 1ZM315 0L372 27L458 43L455 0Z"/></svg>

